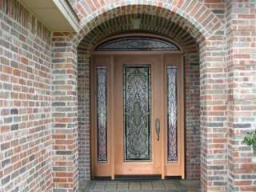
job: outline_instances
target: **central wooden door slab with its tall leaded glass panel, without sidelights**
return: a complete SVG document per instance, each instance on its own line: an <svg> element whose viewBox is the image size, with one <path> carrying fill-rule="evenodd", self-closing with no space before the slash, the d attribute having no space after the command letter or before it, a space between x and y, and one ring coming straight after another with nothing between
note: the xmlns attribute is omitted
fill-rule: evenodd
<svg viewBox="0 0 256 192"><path fill-rule="evenodd" d="M154 129L164 102L158 86L161 57L122 55L115 56L114 63L115 110L120 112L115 121L115 174L161 175L162 143Z"/></svg>

